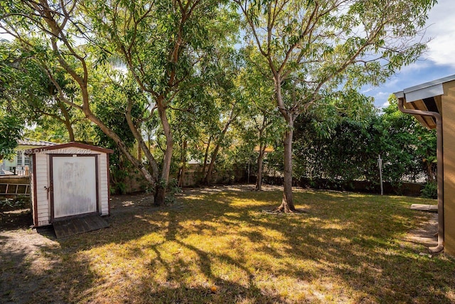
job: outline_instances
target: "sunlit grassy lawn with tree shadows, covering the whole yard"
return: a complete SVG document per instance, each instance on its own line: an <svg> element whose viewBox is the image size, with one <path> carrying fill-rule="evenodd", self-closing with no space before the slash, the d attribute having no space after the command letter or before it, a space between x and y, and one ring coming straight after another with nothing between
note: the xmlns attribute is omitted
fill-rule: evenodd
<svg viewBox="0 0 455 304"><path fill-rule="evenodd" d="M296 190L307 213L263 212L281 196L218 188L161 209L123 201L109 229L39 248L41 271L1 266L38 282L33 303L455 302L454 259L404 241L429 216L410 204L436 201Z"/></svg>

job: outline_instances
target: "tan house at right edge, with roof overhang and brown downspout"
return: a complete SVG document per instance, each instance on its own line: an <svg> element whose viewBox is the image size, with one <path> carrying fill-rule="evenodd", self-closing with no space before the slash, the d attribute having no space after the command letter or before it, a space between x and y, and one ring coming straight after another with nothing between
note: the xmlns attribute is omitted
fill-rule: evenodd
<svg viewBox="0 0 455 304"><path fill-rule="evenodd" d="M398 108L437 129L438 245L455 256L455 75L395 93Z"/></svg>

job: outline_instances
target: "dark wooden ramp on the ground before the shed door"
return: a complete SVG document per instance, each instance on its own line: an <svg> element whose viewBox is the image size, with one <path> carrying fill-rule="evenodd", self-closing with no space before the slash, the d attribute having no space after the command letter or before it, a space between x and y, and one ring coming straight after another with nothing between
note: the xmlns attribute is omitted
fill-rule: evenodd
<svg viewBox="0 0 455 304"><path fill-rule="evenodd" d="M107 221L98 214L75 217L73 219L63 219L53 222L55 236L57 239L74 236L75 234L84 234L88 231L94 231L109 227Z"/></svg>

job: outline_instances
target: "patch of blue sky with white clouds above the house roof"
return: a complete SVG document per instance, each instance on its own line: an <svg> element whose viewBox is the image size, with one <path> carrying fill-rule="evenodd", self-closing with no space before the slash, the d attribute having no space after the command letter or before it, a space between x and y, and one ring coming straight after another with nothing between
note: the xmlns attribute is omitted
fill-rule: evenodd
<svg viewBox="0 0 455 304"><path fill-rule="evenodd" d="M429 12L424 40L431 39L428 50L416 63L407 65L379 87L364 87L364 95L375 98L377 108L387 107L390 94L414 85L455 74L454 0L438 0Z"/></svg>

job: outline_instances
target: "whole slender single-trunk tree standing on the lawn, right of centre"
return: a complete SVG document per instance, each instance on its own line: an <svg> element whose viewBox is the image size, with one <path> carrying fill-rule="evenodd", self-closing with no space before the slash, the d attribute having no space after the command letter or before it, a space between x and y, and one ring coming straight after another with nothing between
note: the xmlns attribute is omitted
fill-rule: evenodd
<svg viewBox="0 0 455 304"><path fill-rule="evenodd" d="M420 1L235 0L246 41L262 55L263 73L274 81L284 138L284 193L279 211L295 211L292 200L294 122L302 112L343 85L378 85L425 48L422 33L436 3Z"/></svg>

